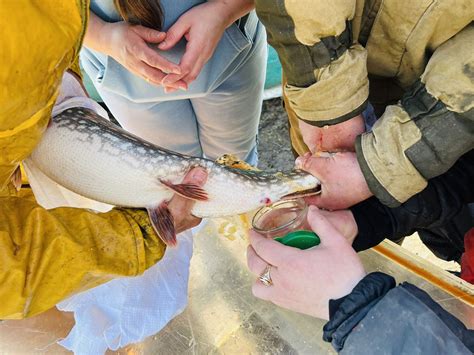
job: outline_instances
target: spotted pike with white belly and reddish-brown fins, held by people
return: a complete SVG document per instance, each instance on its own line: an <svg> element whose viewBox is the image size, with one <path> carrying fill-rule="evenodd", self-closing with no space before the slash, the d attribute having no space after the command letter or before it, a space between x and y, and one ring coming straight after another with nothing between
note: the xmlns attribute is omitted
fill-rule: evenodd
<svg viewBox="0 0 474 355"><path fill-rule="evenodd" d="M50 179L96 201L146 208L157 234L176 244L167 202L173 194L195 200L196 217L221 217L311 192L319 187L300 171L246 171L208 159L182 155L126 132L86 108L52 118L30 159ZM183 184L193 167L207 170L204 186Z"/></svg>

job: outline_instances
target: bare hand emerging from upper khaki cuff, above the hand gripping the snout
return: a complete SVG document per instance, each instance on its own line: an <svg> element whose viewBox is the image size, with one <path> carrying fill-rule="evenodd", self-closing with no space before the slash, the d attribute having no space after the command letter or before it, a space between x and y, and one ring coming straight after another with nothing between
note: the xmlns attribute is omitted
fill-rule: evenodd
<svg viewBox="0 0 474 355"><path fill-rule="evenodd" d="M358 115L333 126L316 127L299 120L303 141L312 153L355 151L357 136L365 132L364 118Z"/></svg>

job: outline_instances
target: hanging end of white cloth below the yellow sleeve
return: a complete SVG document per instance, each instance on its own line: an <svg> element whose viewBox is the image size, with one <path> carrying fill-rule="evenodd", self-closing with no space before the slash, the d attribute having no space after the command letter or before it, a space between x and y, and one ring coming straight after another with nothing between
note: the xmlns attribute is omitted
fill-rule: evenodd
<svg viewBox="0 0 474 355"><path fill-rule="evenodd" d="M178 247L168 248L142 276L116 279L59 303L76 320L59 344L75 354L103 354L157 333L181 313L187 304L192 233L178 240Z"/></svg>

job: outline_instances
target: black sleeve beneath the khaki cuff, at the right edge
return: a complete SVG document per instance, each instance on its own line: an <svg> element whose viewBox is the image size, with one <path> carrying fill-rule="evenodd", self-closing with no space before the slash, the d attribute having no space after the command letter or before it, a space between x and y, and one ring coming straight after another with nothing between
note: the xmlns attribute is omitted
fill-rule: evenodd
<svg viewBox="0 0 474 355"><path fill-rule="evenodd" d="M375 197L351 211L359 233L352 244L356 251L379 244L383 239L399 239L420 229L442 226L474 202L474 150L463 155L445 174L431 179L419 194L396 208Z"/></svg>

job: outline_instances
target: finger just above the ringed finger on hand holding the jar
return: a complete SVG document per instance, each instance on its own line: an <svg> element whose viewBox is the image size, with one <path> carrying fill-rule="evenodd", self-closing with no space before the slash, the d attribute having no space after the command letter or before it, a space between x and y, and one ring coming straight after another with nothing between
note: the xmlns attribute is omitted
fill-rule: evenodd
<svg viewBox="0 0 474 355"><path fill-rule="evenodd" d="M250 245L252 245L258 256L271 265L281 265L297 252L297 249L284 246L273 239L265 238L254 230L250 231L249 239Z"/></svg>

